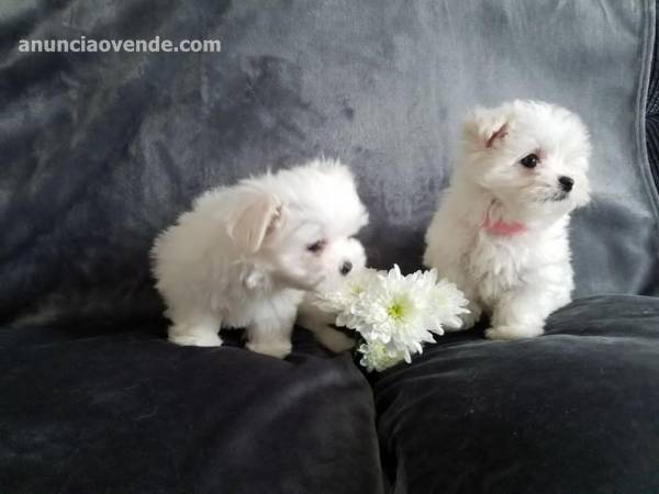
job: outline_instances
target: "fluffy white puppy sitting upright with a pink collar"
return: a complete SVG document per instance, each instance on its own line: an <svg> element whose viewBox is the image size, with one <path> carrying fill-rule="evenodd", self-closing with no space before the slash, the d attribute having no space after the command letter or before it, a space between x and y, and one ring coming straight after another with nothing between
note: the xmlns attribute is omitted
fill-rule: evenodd
<svg viewBox="0 0 659 494"><path fill-rule="evenodd" d="M426 233L424 262L470 300L467 329L481 311L487 336L540 335L570 302L569 215L589 201L589 134L579 117L548 103L478 109Z"/></svg>

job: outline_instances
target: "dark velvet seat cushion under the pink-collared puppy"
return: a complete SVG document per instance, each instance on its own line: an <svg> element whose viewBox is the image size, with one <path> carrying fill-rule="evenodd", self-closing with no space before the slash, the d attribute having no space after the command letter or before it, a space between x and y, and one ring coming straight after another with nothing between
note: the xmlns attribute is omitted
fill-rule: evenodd
<svg viewBox="0 0 659 494"><path fill-rule="evenodd" d="M659 492L658 299L581 299L534 339L445 336L375 393L396 493Z"/></svg>

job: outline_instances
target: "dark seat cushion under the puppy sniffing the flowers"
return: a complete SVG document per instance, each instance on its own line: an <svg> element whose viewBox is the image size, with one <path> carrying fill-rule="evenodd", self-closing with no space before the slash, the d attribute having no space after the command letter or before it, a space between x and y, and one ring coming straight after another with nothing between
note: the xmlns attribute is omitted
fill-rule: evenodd
<svg viewBox="0 0 659 494"><path fill-rule="evenodd" d="M0 492L382 491L372 395L348 355L308 335L282 361L92 329L0 330Z"/></svg>

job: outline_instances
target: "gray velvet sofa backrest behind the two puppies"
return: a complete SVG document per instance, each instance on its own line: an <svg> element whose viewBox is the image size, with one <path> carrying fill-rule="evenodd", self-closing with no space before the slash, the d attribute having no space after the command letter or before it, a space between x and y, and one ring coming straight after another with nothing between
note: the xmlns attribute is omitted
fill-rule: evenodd
<svg viewBox="0 0 659 494"><path fill-rule="evenodd" d="M645 142L649 0L13 2L0 16L0 317L150 317L147 251L204 189L351 165L371 263L417 268L476 104L581 115L594 200L577 296L659 293ZM221 53L21 53L19 40L220 40Z"/></svg>

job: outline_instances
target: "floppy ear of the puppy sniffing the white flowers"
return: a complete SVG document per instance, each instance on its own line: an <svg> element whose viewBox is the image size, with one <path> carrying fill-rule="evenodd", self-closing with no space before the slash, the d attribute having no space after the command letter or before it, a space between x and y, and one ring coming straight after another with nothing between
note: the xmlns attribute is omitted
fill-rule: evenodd
<svg viewBox="0 0 659 494"><path fill-rule="evenodd" d="M265 238L279 226L281 202L270 193L244 191L226 221L228 236L241 250L256 252Z"/></svg>

